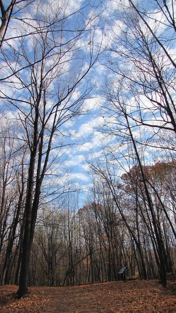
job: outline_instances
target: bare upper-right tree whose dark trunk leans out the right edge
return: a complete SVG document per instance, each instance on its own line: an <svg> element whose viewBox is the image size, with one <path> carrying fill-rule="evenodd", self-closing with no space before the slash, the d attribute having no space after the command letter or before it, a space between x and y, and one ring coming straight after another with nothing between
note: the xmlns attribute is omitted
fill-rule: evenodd
<svg viewBox="0 0 176 313"><path fill-rule="evenodd" d="M140 127L141 144L174 150L174 5L152 1L146 8L131 0L117 3L121 23L111 24L112 31L119 27L119 33L114 33L107 56L112 79L123 85L127 115Z"/></svg>

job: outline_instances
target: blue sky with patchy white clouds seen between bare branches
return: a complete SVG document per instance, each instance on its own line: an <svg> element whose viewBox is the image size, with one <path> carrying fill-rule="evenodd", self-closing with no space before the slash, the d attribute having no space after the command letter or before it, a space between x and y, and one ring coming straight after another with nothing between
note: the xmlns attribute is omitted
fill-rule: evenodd
<svg viewBox="0 0 176 313"><path fill-rule="evenodd" d="M4 1L4 6L7 7L10 1ZM35 3L38 3L37 1ZM40 48L40 38L38 38L37 34L32 36L24 36L27 32L30 32L31 29L34 30L38 27L38 19L43 19L42 27L45 27L46 20L54 18L54 14L56 14L55 9L57 8L58 0L48 0L48 4L46 1L42 3L41 15L39 16L39 12L37 7L31 6L20 9L19 11L15 11L13 18L9 23L9 28L7 32L7 36L9 36L8 40L4 43L3 51L4 55L1 57L1 69L0 69L0 80L1 80L1 98L4 99L5 96L8 95L8 105L7 102L3 103L3 114L7 115L8 119L19 119L19 116L23 122L25 121L25 114L29 113L29 107L31 105L31 96L29 93L27 86L31 83L31 78L28 72L28 63L26 63L26 59L21 52L21 46L18 39L14 39L19 35L23 36L23 47L25 49L26 57L30 59L31 62L35 61L35 58L39 58L40 54L42 55L42 48ZM133 32L133 26L125 23L125 18L127 18L128 10L130 4L128 0L107 0L107 1L91 1L90 5L86 6L86 1L75 1L72 0L69 2L69 6L65 7L66 2L64 0L60 1L60 7L62 10L58 10L58 17L63 17L63 11L65 14L70 15L66 24L57 24L54 20L54 29L57 30L57 27L62 28L62 32L60 31L58 37L55 37L56 46L52 50L52 54L48 54L49 57L46 58L46 76L45 84L48 86L48 102L47 102L47 110L48 116L52 111L53 105L58 101L57 95L66 94L67 90L73 84L73 81L77 75L82 75L86 72L88 64L90 62L90 55L92 52L92 59L95 60L96 53L99 51L99 59L95 62L94 66L90 70L91 80L83 79L83 84L78 85L72 94L72 98L69 99L68 103L71 101L76 101L81 92L84 93L84 88L87 84L88 88L90 88L91 84L95 85L95 88L90 92L88 99L85 99L83 102L84 111L88 111L87 114L79 115L77 118L71 118L69 121L65 123L65 129L61 126L61 130L63 134L65 132L70 133L71 136L69 140L66 141L70 146L69 149L65 147L65 160L66 167L68 167L68 171L71 173L70 177L74 178L77 182L77 186L81 189L82 196L80 197L80 206L84 205L84 191L89 189L91 184L90 177L88 175L89 166L85 159L91 159L93 157L97 158L101 162L101 157L104 156L103 148L108 146L108 149L114 147L115 140L113 136L107 136L107 134L102 132L102 127L106 128L106 125L111 125L111 127L116 127L116 121L114 116L108 116L107 113L107 95L104 93L103 88L105 85L105 77L108 78L108 83L110 83L110 87L112 85L116 85L114 82L119 80L119 74L116 73L116 69L118 68L118 72L126 71L126 73L133 72L134 62L130 62L132 58L135 59L133 55L132 48L137 49L138 47L138 38ZM137 1L134 1L137 3ZM165 43L164 47L169 52L170 55L174 56L176 52L175 45L175 35L172 33L172 29L169 28L169 18L168 13L157 8L156 1L140 1L139 2L143 8L146 9L146 20L148 20L149 26L153 29L157 36L160 36L162 40L164 36L170 36L168 42ZM171 7L172 1L168 1L168 8ZM79 10L82 8L82 13L74 13L75 10ZM175 4L173 6L173 14L175 14ZM124 9L126 8L126 10ZM73 14L74 13L74 14ZM72 15L73 14L73 15ZM156 20L157 16L157 20ZM31 19L34 18L33 19ZM45 20L45 17L46 20ZM125 17L125 18L124 18ZM90 22L91 21L91 22ZM143 33L150 37L150 33L148 33L148 28L146 28L145 23L142 21L141 29ZM40 26L41 26L40 25ZM59 26L58 26L59 25ZM70 52L66 52L66 47L68 43L70 44L70 36L74 34L78 34L79 27L85 26L85 32L80 37L76 38L76 42L74 43L74 47L76 49L72 51L72 58L70 59ZM44 29L44 28L43 28ZM62 34L62 35L61 35ZM127 37L126 35L127 34ZM62 37L62 38L61 38ZM13 39L12 39L13 38ZM34 39L35 38L35 39ZM73 36L74 38L74 36ZM126 38L129 40L128 44L126 44ZM38 43L37 53L34 54L34 45L35 40ZM74 42L74 39L72 40ZM61 44L60 44L61 43ZM52 36L49 39L49 47L52 45ZM60 47L62 47L60 52ZM105 49L106 48L106 49ZM154 52L156 47L154 47ZM49 51L49 48L47 48ZM104 50L105 49L105 50ZM131 50L130 50L131 49ZM14 51L19 51L20 53L15 55ZM60 52L60 63L58 63L58 53ZM127 59L126 55L130 54L131 59ZM144 53L145 54L145 53ZM141 54L141 56L143 56ZM84 64L81 67L82 58L84 59ZM137 55L138 61L140 60L140 55ZM164 62L164 71L167 74L168 83L170 81L170 88L172 92L174 90L174 83L171 81L173 75L173 67L170 60L166 59L164 53L160 51L160 48L157 51L158 62ZM134 60L133 60L134 61ZM7 63L8 66L7 66ZM27 64L27 65L26 65ZM145 64L143 64L144 66ZM20 67L24 68L19 71ZM40 63L37 63L34 71L36 72L36 81L39 85L40 78ZM146 65L147 66L147 65ZM50 71L50 69L52 70ZM11 73L16 71L16 75L12 76ZM150 69L148 69L150 73ZM55 75L54 81L50 81L50 73ZM19 75L18 75L19 74ZM89 75L89 74L88 74ZM137 70L134 70L134 76L136 79ZM8 83L5 81L5 77L8 76ZM138 77L138 76L137 76ZM34 78L33 78L34 79ZM142 79L139 77L139 80ZM151 74L145 78L146 80L151 79ZM21 83L23 81L23 83ZM67 81L68 87L65 89L65 81ZM125 85L126 84L126 85ZM22 87L20 87L22 86ZM116 85L117 89L119 85ZM131 115L131 118L135 116L135 110L137 108L137 97L135 94L129 93L129 85L128 81L123 82L123 93L126 97L126 105L128 107L128 113ZM115 88L114 88L115 89ZM61 90L61 91L60 91ZM139 91L139 90L138 90ZM55 95L54 95L55 92ZM15 98L16 97L16 98ZM155 100L157 100L158 95L155 96ZM17 99L14 101L14 98ZM161 98L161 97L160 97ZM24 101L26 99L26 101ZM18 101L18 109L17 103ZM163 100L162 100L163 101ZM12 109L13 103L13 109ZM15 104L14 104L15 103ZM62 108L68 104L62 102ZM138 105L142 104L142 112L143 116L147 118L150 116L150 123L156 123L156 116L159 114L155 111L155 114L150 115L149 108L151 106L150 100L147 100L142 94L139 99ZM21 105L21 106L20 106ZM7 107L6 107L7 106ZM6 113L4 113L4 107ZM65 110L65 116L67 114L67 110ZM22 117L23 116L23 117ZM158 115L159 116L159 115ZM50 119L50 123L52 123L52 118ZM157 123L161 123L162 121L159 119ZM145 128L146 131L147 128ZM29 128L28 131L30 132ZM146 140L147 136L149 136L150 131L145 133L143 136L143 140ZM141 128L139 126L135 126L133 128L133 134L136 139L141 136ZM19 134L18 134L19 135ZM140 135L140 136L139 136ZM21 135L24 136L24 135ZM27 135L25 135L27 136ZM31 135L32 136L32 135ZM46 132L46 140L47 140L47 132ZM65 135L66 136L66 135ZM119 154L122 153L125 155L125 149L127 148L125 145L123 146L124 150L120 151ZM113 148L112 148L113 149ZM149 155L149 152L146 151L146 156ZM148 157L148 156L147 156Z"/></svg>

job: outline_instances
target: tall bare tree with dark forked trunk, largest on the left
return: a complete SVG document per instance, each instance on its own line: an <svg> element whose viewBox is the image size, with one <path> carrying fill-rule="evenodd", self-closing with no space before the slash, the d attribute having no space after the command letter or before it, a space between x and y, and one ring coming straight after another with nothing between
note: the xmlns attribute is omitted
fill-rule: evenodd
<svg viewBox="0 0 176 313"><path fill-rule="evenodd" d="M95 10L92 14L85 22L81 10L65 2L34 1L29 12L23 12L25 28L18 29L21 35L13 37L10 47L6 45L2 51L6 71L1 82L6 87L1 90L1 99L6 107L7 103L13 106L13 115L21 122L18 140L29 149L19 297L27 290L41 186L53 162L50 152L63 146L69 136L64 123L84 112L84 100L93 87L86 77L101 53L101 39L96 45L100 19L94 22L98 14Z"/></svg>

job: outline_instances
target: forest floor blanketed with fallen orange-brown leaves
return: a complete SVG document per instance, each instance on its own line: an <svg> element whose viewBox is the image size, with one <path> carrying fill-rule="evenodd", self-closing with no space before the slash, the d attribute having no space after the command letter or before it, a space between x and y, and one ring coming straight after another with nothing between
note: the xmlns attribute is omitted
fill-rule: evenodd
<svg viewBox="0 0 176 313"><path fill-rule="evenodd" d="M30 287L15 299L18 287L0 287L1 313L176 313L176 281L117 281L74 287Z"/></svg>

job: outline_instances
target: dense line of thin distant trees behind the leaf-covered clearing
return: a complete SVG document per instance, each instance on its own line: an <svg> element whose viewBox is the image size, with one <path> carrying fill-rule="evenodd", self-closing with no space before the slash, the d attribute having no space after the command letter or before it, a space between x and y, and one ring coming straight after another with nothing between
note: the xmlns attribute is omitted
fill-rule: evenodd
<svg viewBox="0 0 176 313"><path fill-rule="evenodd" d="M159 278L162 267L156 229L166 272L176 273L176 162L157 162L145 168L150 212L138 167L108 182L94 174L90 203L78 208L77 194L62 195L39 209L31 247L28 285L80 285L127 276ZM21 188L8 185L2 215L1 285L18 284L23 236L23 210L18 213ZM112 188L114 196L112 197ZM153 223L153 216L155 223ZM18 223L17 223L18 217ZM12 244L13 241L13 244Z"/></svg>

